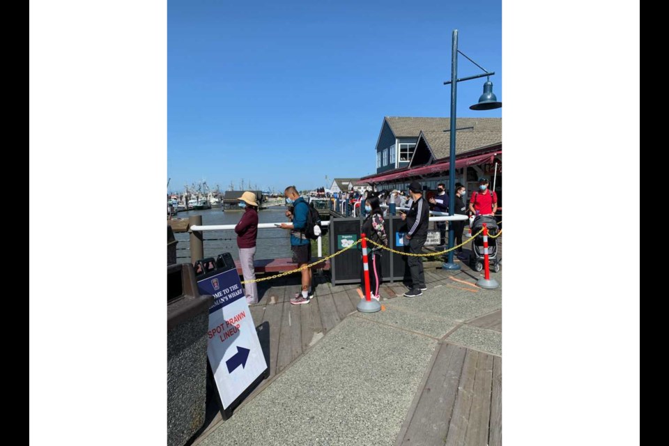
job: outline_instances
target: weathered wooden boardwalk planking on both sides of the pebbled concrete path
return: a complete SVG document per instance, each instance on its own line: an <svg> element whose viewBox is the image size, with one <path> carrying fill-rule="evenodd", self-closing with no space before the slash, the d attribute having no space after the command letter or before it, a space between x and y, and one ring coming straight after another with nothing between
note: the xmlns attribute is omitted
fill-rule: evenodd
<svg viewBox="0 0 669 446"><path fill-rule="evenodd" d="M463 270L470 271L464 266ZM451 272L436 268L425 271L428 286L454 286L449 279ZM478 275L475 272L472 274ZM463 278L470 277L465 275ZM316 298L312 302L291 305L291 297L300 291L298 276L259 282L260 301L250 307L250 312L270 367L270 377L263 380L242 405L261 392L277 374L289 367L348 314L356 311L355 306L360 302L357 285L332 286L326 275L319 274L314 274L314 284ZM399 282L387 283L381 286L380 295L392 299L405 291L406 286ZM468 321L466 325L501 332L501 310ZM501 357L454 346L445 340L437 348L432 364L434 367L427 372L429 376L426 376L422 389L418 390L420 398L417 396L410 408L397 444L486 445L479 442L482 438L490 440L490 445L501 444L501 440L495 443L498 437L501 438ZM438 391L431 390L437 388ZM208 392L214 390L209 389ZM495 392L497 397L494 396ZM487 406L485 394L488 395ZM439 400L438 407L434 406L433 399ZM487 415L479 416L479 413ZM477 415L470 417L470 414ZM495 424L491 420L500 422ZM205 425L192 445L206 438L221 422L215 398L208 397ZM491 424L490 429L488 424ZM435 427L425 429L427 425Z"/></svg>

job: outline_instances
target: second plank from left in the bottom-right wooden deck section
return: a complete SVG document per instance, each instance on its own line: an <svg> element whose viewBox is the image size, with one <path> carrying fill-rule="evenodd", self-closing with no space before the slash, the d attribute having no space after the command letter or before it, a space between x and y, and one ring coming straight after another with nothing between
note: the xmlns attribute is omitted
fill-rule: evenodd
<svg viewBox="0 0 669 446"><path fill-rule="evenodd" d="M484 355L484 353L480 354ZM462 446L466 444L465 437L467 435L470 409L472 408L474 377L478 359L479 352L467 350L458 385L458 396L456 397L453 415L448 426L445 446Z"/></svg>

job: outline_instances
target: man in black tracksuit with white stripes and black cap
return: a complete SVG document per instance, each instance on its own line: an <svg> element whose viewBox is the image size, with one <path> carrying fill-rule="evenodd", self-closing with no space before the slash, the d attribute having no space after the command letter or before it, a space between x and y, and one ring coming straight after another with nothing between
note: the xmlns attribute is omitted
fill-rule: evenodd
<svg viewBox="0 0 669 446"><path fill-rule="evenodd" d="M430 208L426 199L423 198L420 183L414 181L409 185L411 198L413 203L406 214L402 214L402 220L406 220L409 249L411 254L420 254L423 251L423 245L427 240L427 225L429 222ZM411 289L404 293L407 298L415 298L422 295L422 291L426 290L425 274L423 272L423 262L420 257L407 256L406 263L408 263L411 271Z"/></svg>

